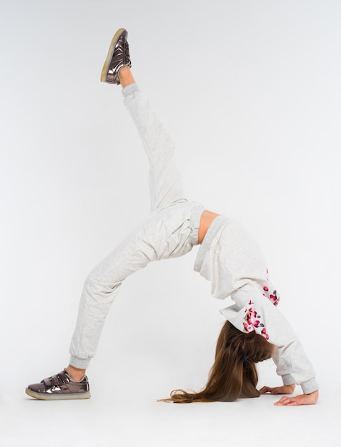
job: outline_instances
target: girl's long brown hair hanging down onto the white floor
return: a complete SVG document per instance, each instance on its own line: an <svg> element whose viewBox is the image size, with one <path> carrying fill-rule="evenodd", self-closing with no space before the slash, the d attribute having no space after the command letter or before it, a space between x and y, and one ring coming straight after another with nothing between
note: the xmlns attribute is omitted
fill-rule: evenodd
<svg viewBox="0 0 341 447"><path fill-rule="evenodd" d="M219 333L214 364L206 386L199 393L178 389L163 401L174 403L232 402L259 397L255 363L272 356L274 346L254 331L243 333L226 321Z"/></svg>

